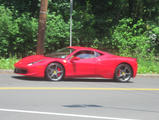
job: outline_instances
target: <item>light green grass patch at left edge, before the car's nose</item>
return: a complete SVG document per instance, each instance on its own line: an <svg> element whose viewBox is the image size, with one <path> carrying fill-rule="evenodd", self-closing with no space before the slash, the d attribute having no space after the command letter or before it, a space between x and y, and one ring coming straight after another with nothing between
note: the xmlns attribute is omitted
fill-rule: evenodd
<svg viewBox="0 0 159 120"><path fill-rule="evenodd" d="M0 58L0 69L14 69L14 63L16 63L18 59L16 57L12 58Z"/></svg>

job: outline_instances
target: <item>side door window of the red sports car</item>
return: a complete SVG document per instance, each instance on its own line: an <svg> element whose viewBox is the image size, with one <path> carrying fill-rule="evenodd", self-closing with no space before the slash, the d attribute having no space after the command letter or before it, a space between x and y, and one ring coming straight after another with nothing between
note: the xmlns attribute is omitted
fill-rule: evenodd
<svg viewBox="0 0 159 120"><path fill-rule="evenodd" d="M74 56L79 57L80 59L88 59L96 57L94 51L86 51L86 50L79 51Z"/></svg>

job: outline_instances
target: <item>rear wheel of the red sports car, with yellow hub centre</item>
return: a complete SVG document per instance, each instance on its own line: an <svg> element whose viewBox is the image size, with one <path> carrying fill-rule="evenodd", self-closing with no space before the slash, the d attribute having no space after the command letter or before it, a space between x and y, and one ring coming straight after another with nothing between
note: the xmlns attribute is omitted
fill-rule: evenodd
<svg viewBox="0 0 159 120"><path fill-rule="evenodd" d="M118 82L128 82L132 76L132 68L126 63L118 65L114 73L114 79Z"/></svg>

